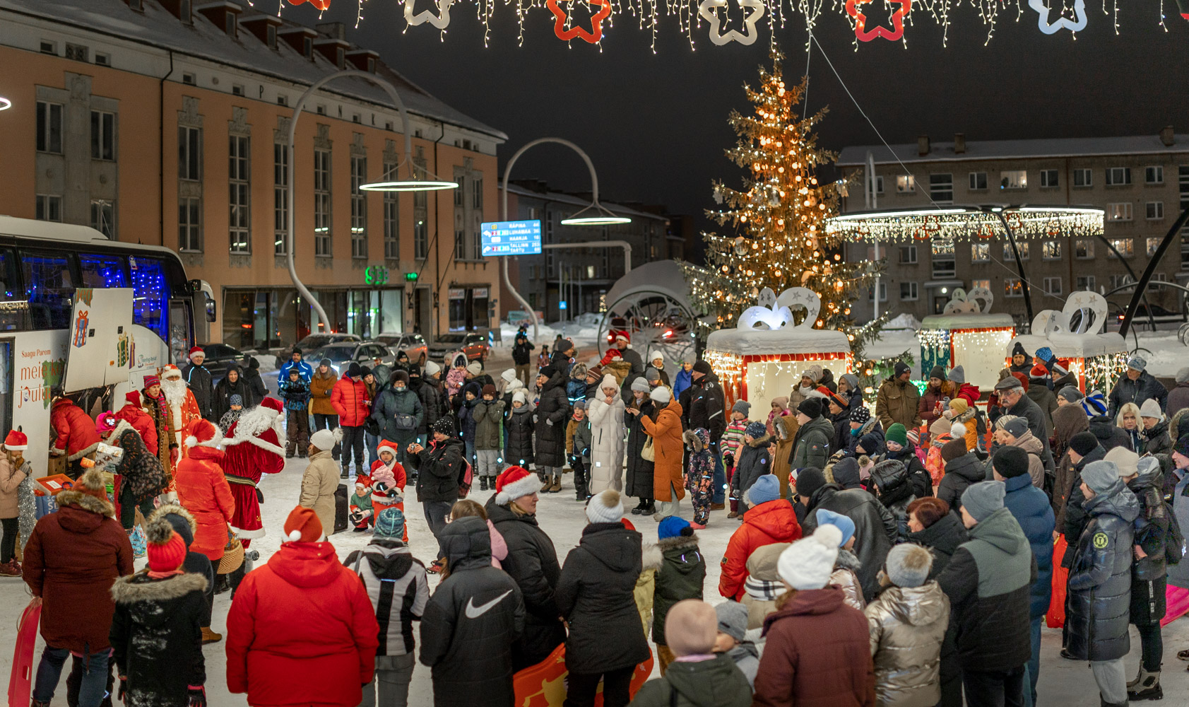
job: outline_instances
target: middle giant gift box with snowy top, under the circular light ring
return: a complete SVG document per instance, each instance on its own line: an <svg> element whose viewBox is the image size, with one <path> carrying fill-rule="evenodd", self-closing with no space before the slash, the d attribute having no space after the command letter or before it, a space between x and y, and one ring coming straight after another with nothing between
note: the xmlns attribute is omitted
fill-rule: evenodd
<svg viewBox="0 0 1189 707"><path fill-rule="evenodd" d="M945 370L961 365L967 382L980 390L988 392L999 382L1004 368L1000 352L1015 336L1015 325L1011 314L990 313L994 302L986 287L969 294L960 287L940 314L921 320L917 332L921 377L927 378L935 365Z"/></svg>

